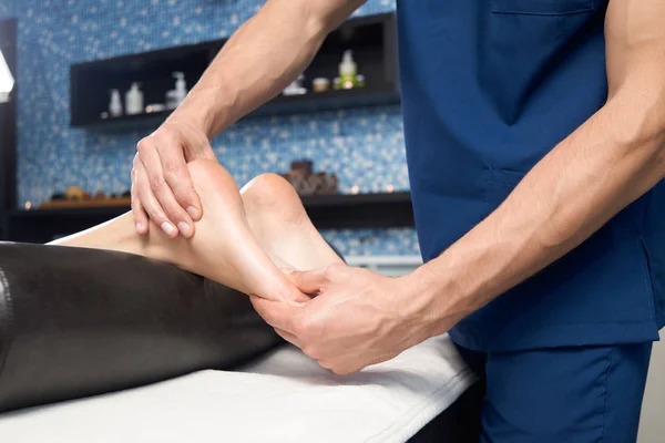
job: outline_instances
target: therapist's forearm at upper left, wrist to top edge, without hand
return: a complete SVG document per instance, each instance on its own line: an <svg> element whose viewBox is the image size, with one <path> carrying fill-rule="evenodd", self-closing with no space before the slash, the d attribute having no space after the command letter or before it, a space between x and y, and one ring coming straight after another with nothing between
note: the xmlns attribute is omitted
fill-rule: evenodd
<svg viewBox="0 0 665 443"><path fill-rule="evenodd" d="M284 90L364 0L268 0L226 42L170 121L213 138Z"/></svg>

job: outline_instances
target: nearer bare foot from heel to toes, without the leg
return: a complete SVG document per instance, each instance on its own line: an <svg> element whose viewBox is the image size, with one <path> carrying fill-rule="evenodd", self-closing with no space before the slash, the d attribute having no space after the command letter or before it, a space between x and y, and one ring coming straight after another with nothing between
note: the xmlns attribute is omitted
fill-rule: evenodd
<svg viewBox="0 0 665 443"><path fill-rule="evenodd" d="M214 161L188 164L203 205L203 217L190 240L185 268L245 293L270 299L299 299L300 293L270 261L254 237L237 185Z"/></svg>

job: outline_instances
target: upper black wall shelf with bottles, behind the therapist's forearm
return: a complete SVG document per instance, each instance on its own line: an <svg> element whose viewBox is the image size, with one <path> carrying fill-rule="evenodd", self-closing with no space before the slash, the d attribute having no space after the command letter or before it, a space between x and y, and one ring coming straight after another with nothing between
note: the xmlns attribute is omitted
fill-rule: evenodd
<svg viewBox="0 0 665 443"><path fill-rule="evenodd" d="M249 116L399 103L395 20L395 14L385 13L346 21L326 39L298 85ZM72 65L71 125L115 131L160 124L182 97L178 85L174 89L174 75L192 87L224 43L216 40ZM348 50L351 53L345 55ZM340 62L349 56L358 81L341 75L336 89L335 78L346 71ZM171 99L175 103L166 103ZM127 114L130 101L133 111Z"/></svg>

